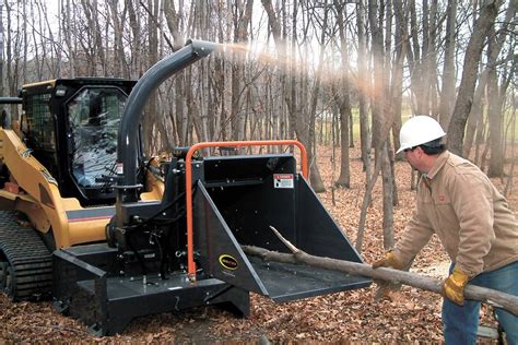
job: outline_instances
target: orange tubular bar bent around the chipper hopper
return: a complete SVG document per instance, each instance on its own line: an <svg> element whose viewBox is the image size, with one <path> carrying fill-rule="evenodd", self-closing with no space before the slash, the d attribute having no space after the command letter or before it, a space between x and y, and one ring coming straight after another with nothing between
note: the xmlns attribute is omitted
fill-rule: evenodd
<svg viewBox="0 0 518 345"><path fill-rule="evenodd" d="M195 242L192 234L192 167L191 158L195 152L200 148L231 146L278 146L278 145L295 145L301 150L301 168L303 176L307 179L307 152L306 147L297 140L266 140L266 141L225 141L225 142L205 142L190 146L186 155L186 210L187 210L187 272L191 282L196 281L196 263L195 263Z"/></svg>

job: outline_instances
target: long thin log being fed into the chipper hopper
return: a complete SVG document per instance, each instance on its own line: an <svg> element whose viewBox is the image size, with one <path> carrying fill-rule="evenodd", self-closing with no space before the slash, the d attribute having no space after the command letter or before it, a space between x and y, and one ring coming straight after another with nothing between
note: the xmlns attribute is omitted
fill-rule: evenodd
<svg viewBox="0 0 518 345"><path fill-rule="evenodd" d="M443 281L436 278L387 267L373 270L373 267L366 263L315 257L299 250L290 242L287 242L286 246L292 250L293 254L281 253L254 246L242 246L242 248L246 254L259 257L263 261L306 264L315 267L340 271L352 275L368 276L374 279L401 283L436 294L442 294ZM496 308L503 308L515 316L518 316L518 296L471 284L466 286L464 296L466 298L480 300Z"/></svg>

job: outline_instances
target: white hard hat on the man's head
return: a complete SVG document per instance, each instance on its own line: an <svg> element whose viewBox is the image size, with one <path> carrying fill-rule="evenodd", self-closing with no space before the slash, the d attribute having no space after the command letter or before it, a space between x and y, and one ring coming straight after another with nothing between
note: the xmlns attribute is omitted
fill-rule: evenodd
<svg viewBox="0 0 518 345"><path fill-rule="evenodd" d="M445 131L434 118L425 115L414 116L401 127L401 131L399 132L401 146L396 154L445 135Z"/></svg>

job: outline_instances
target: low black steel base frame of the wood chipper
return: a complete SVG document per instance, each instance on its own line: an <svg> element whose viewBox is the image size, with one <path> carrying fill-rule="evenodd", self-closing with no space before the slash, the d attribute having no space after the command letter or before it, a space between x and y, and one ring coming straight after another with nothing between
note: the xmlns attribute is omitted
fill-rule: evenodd
<svg viewBox="0 0 518 345"><path fill-rule="evenodd" d="M84 322L89 331L98 335L121 333L137 317L158 312L174 312L187 308L219 305L238 317L250 312L249 293L215 278L192 283L186 273L172 274L168 279L149 275L144 284L141 275L108 276L81 260L96 262L95 255L106 258L116 253L99 246L72 252L57 250L54 254L54 307Z"/></svg>

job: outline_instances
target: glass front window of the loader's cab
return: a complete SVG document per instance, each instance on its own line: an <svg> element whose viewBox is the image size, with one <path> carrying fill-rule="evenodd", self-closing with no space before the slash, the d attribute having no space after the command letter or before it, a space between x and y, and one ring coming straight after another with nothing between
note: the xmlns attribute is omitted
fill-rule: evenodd
<svg viewBox="0 0 518 345"><path fill-rule="evenodd" d="M72 172L81 187L99 187L115 177L117 132L126 95L113 87L85 87L68 104Z"/></svg>

